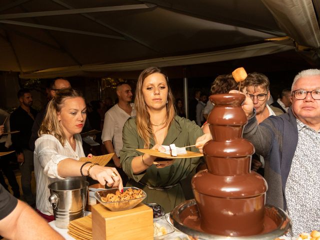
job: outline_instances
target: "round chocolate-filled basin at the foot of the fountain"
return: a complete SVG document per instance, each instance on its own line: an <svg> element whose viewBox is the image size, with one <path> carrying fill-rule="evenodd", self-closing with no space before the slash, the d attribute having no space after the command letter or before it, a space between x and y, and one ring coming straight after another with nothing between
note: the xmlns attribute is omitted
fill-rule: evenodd
<svg viewBox="0 0 320 240"><path fill-rule="evenodd" d="M265 205L264 229L260 234L250 236L222 236L204 232L200 227L200 218L194 199L177 205L170 213L174 227L195 239L259 239L267 240L285 234L291 227L288 215L280 208Z"/></svg>

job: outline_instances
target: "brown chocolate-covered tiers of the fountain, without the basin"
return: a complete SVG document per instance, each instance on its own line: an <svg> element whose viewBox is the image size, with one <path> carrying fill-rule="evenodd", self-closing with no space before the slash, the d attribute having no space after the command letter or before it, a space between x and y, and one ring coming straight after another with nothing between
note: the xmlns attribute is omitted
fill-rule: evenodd
<svg viewBox="0 0 320 240"><path fill-rule="evenodd" d="M253 145L242 138L246 116L243 94L216 94L208 116L212 140L203 146L206 170L192 178L200 228L211 234L246 236L261 233L267 184L250 171Z"/></svg>

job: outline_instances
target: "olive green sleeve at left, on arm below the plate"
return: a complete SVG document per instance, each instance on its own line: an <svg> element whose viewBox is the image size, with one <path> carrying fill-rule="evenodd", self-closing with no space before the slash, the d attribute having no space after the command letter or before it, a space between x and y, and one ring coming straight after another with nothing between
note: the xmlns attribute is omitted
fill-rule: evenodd
<svg viewBox="0 0 320 240"><path fill-rule="evenodd" d="M135 118L129 118L123 126L122 129L122 141L123 147L120 150L120 163L122 169L130 178L135 181L139 181L145 171L134 174L132 170L132 159L138 155L142 155L141 152L137 151L138 148L143 148L143 140L138 136L136 130Z"/></svg>

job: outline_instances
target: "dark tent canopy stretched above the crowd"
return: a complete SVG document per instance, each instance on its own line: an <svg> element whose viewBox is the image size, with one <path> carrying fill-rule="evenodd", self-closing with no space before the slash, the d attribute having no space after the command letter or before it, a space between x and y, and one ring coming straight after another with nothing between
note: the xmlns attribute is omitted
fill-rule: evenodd
<svg viewBox="0 0 320 240"><path fill-rule="evenodd" d="M319 9L316 0L1 0L0 70L85 75L294 49L317 64Z"/></svg>

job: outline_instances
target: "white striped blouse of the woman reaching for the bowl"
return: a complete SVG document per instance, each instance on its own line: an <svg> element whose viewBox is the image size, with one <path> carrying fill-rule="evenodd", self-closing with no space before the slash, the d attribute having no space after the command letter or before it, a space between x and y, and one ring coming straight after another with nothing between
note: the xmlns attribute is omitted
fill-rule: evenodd
<svg viewBox="0 0 320 240"><path fill-rule="evenodd" d="M74 135L75 151L66 141L64 146L57 138L50 134L43 134L35 141L33 162L36 181L36 208L46 215L53 215L53 209L48 198L50 190L48 185L54 181L65 179L57 172L57 164L66 158L78 160L84 157L80 134Z"/></svg>

